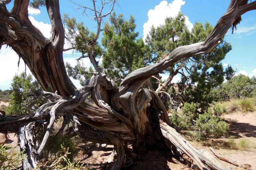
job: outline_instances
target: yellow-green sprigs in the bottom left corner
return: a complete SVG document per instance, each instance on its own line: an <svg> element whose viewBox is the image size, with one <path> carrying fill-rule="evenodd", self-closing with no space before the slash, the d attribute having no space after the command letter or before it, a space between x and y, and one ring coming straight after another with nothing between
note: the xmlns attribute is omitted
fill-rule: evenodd
<svg viewBox="0 0 256 170"><path fill-rule="evenodd" d="M3 145L0 145L0 170L11 170L20 166L21 161L26 159L24 152L8 153Z"/></svg>

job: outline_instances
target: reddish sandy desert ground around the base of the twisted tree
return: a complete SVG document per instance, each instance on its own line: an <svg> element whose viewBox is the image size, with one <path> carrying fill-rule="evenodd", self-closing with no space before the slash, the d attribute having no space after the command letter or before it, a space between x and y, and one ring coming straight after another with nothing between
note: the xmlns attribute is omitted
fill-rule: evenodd
<svg viewBox="0 0 256 170"><path fill-rule="evenodd" d="M241 139L246 139L250 141L252 147L247 150L232 150L232 149L221 149L218 148L218 144L223 141L228 141L228 138L221 139L211 139L208 141L209 145L202 143L189 141L197 149L204 148L205 150L212 153L209 146L214 147L215 151L220 153L222 156L236 162L241 166L251 165L252 170L256 170L256 112L253 113L234 113L230 115L222 116L227 121L232 121L230 126L230 135L235 136L234 139L238 142ZM236 120L236 121L234 121ZM8 146L8 152L19 152L19 147L17 145L17 137L14 134L9 134L10 140L8 140L4 145ZM3 134L0 134L0 144L5 142ZM112 145L107 145L103 147L92 147L87 153L79 152L76 161L80 160L85 165L88 165L95 169L107 170L113 165L113 161L110 163L108 160L111 157L111 152L113 150ZM216 159L217 161L217 159ZM220 164L228 169L242 170L245 168L236 167L229 163L218 160ZM159 152L156 149L143 154L143 160L134 161L133 164L125 168L126 170L189 170L190 168L182 164L180 160L177 160L171 156L168 152Z"/></svg>

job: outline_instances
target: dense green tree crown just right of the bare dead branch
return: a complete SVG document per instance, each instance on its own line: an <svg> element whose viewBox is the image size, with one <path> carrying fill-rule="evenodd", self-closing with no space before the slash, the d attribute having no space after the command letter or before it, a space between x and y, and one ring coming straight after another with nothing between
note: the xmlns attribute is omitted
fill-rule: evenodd
<svg viewBox="0 0 256 170"><path fill-rule="evenodd" d="M109 23L104 25L101 40L105 53L102 66L112 79L122 79L127 74L147 64L144 41L135 32L135 19L130 16L125 20L122 14L110 16Z"/></svg>

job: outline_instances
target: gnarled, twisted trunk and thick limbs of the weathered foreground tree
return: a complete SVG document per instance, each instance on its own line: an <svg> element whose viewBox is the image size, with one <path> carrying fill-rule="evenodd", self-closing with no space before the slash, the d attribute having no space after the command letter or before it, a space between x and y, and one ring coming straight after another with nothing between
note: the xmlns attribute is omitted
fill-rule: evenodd
<svg viewBox="0 0 256 170"><path fill-rule="evenodd" d="M119 88L98 70L99 74L93 75L88 84L80 89L76 89L68 78L63 62L64 28L59 1L45 2L52 23L51 40L45 38L29 21L29 0L15 0L11 12L5 6L10 1L0 0L0 48L3 44L12 47L44 90L49 91L44 94L50 98L50 102L31 115L16 118L0 115L0 132L19 132L21 149L29 155L29 159L23 161L24 169L36 166L51 134L53 122L64 114L72 117L73 129L80 137L115 145L118 159L113 169L120 169L124 163L124 142L138 148L143 143L153 145L157 141L169 145L167 147L173 153L193 160L191 163L200 169L223 169L180 137L171 127L159 96L152 90L144 89L143 85L148 78L182 58L209 53L221 42L228 29L235 26L242 14L256 9L256 2L244 4L244 1L231 0L227 12L205 41L178 47L162 61L133 71L122 80ZM92 94L96 105L86 101L89 94ZM35 123L40 122L47 122L48 125L43 142L37 148L32 129Z"/></svg>

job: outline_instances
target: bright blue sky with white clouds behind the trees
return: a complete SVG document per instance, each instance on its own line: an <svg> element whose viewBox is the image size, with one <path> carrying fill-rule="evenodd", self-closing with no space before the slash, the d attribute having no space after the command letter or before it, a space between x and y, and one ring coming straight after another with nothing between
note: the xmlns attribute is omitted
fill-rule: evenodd
<svg viewBox="0 0 256 170"><path fill-rule="evenodd" d="M85 6L92 6L91 0L74 0ZM132 15L136 19L137 31L140 37L146 35L147 30L152 24L155 26L162 24L166 16L175 16L181 11L186 17L188 28L192 28L196 21L205 23L210 22L215 25L219 18L225 13L229 5L228 0L119 0L119 6L115 7L117 14L124 14L125 18ZM83 21L91 31L96 30L96 23L89 19L86 15L82 15L82 10L76 10L77 5L69 0L60 0L60 12L63 15L68 13L69 16L74 16L78 22ZM8 9L12 8L12 4L8 5ZM90 12L88 13L90 14ZM91 13L93 14L93 13ZM42 33L49 37L51 25L48 14L45 8L40 10L29 9L29 18L31 22L37 26ZM222 61L223 65L230 64L237 68L237 73L242 73L248 76L256 75L256 11L250 11L242 16L242 22L237 27L238 30L231 34L230 31L225 36L225 40L230 42L233 49L226 55ZM64 61L75 64L75 59L80 55L77 53L64 54ZM5 90L10 88L12 77L15 73L20 73L24 70L24 63L21 62L20 67L17 67L18 56L10 48L2 48L0 50L0 89ZM84 60L88 66L90 62ZM163 79L167 75L163 75ZM174 81L178 81L176 77ZM74 81L76 86L79 86L77 81Z"/></svg>

